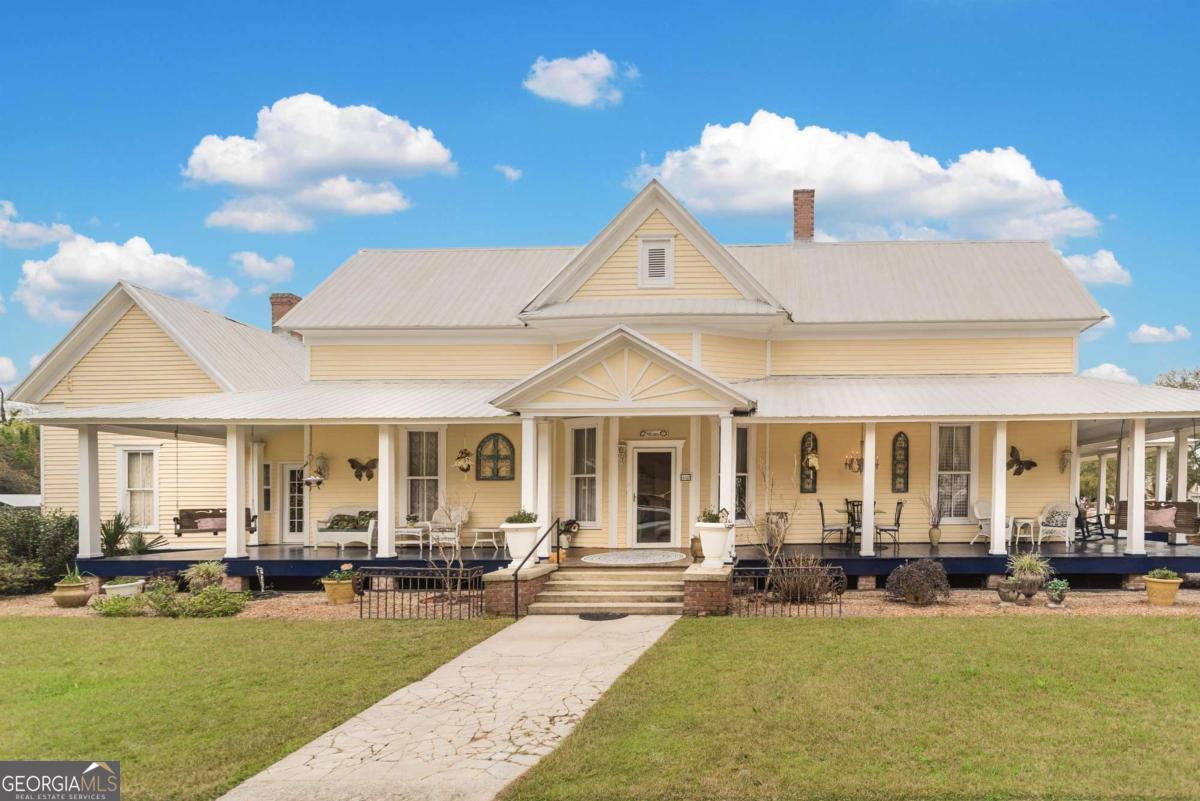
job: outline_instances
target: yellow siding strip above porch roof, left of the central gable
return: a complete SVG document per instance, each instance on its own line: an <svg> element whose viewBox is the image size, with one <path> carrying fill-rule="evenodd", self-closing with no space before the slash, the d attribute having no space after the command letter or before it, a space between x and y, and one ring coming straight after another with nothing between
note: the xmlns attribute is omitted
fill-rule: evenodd
<svg viewBox="0 0 1200 801"><path fill-rule="evenodd" d="M313 380L523 378L551 361L548 344L313 345Z"/></svg>

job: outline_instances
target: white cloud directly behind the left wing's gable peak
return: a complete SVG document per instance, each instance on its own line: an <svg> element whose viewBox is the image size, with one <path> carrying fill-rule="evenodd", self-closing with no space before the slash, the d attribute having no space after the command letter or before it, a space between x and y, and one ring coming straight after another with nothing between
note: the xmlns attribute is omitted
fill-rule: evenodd
<svg viewBox="0 0 1200 801"><path fill-rule="evenodd" d="M218 308L238 294L228 278L212 276L181 255L155 253L140 236L121 245L77 235L60 242L49 258L25 261L20 271L12 296L30 317L52 323L78 319L120 279Z"/></svg>

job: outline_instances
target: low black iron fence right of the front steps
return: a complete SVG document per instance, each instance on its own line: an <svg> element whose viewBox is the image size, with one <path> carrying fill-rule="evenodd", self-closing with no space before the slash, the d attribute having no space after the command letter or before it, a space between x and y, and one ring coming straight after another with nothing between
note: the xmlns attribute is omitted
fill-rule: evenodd
<svg viewBox="0 0 1200 801"><path fill-rule="evenodd" d="M832 565L733 568L732 614L743 618L840 618L846 572Z"/></svg>

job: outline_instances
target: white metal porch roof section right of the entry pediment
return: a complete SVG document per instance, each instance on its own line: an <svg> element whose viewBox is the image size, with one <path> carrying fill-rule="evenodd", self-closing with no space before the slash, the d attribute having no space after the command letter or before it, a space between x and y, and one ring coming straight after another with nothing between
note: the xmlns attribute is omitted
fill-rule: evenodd
<svg viewBox="0 0 1200 801"><path fill-rule="evenodd" d="M1069 374L775 377L734 381L758 417L1200 416L1200 392Z"/></svg>

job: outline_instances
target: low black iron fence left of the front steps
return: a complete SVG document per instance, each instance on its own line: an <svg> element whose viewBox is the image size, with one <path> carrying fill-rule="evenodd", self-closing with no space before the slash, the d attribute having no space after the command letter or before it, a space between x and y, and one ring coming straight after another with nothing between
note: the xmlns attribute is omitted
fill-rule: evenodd
<svg viewBox="0 0 1200 801"><path fill-rule="evenodd" d="M469 620L484 616L484 568L361 567L354 576L360 618Z"/></svg>

